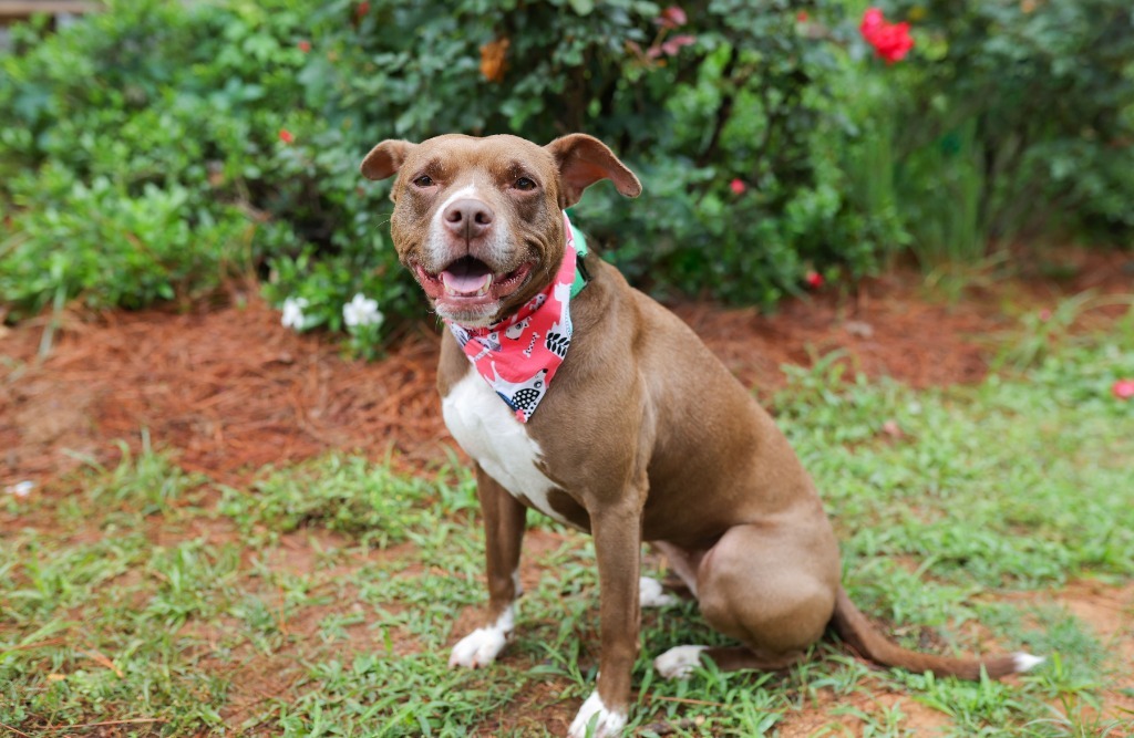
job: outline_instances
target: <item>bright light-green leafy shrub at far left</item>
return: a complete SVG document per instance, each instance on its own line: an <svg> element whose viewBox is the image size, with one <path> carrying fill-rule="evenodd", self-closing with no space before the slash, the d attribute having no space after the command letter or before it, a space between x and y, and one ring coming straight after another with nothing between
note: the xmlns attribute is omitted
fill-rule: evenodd
<svg viewBox="0 0 1134 738"><path fill-rule="evenodd" d="M0 300L193 297L279 245L260 193L302 54L295 14L121 2L0 60ZM6 121L7 122L7 121ZM269 243L265 244L265 237Z"/></svg>

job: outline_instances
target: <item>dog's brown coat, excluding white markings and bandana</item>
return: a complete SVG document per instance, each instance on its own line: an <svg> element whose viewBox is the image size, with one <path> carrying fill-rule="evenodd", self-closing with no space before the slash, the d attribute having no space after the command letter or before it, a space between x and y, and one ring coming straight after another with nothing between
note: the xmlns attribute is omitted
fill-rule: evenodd
<svg viewBox="0 0 1134 738"><path fill-rule="evenodd" d="M438 192L415 188L423 171L432 172ZM538 178L535 195L509 190L508 179L518 171ZM372 179L400 173L391 232L411 268L430 258L421 245L443 193L469 176L491 184L479 196L516 244L513 261L493 269L507 271L524 258L536 264L530 283L500 300L496 320L547 286L564 254L561 209L585 187L609 178L624 194L641 189L603 144L578 134L545 147L511 136L383 142L363 172ZM880 664L968 679L981 669L992 677L1016 670L1013 656L920 654L881 636L847 599L819 495L771 417L680 320L612 266L593 258L587 264L591 282L570 305L570 350L527 433L543 451L544 475L557 485L549 503L594 536L602 628L598 693L607 709L625 711L631 701L643 541L658 542L675 569L685 570L705 620L743 644L709 652L726 668L782 668L833 625ZM468 372L468 359L446 332L441 396ZM486 622L494 622L517 596L511 575L525 499L480 467L477 484L488 545Z"/></svg>

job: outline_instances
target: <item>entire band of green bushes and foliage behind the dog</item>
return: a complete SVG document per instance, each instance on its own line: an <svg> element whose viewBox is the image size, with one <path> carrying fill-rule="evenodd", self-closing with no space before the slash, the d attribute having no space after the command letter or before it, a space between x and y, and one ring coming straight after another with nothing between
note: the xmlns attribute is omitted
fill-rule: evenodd
<svg viewBox="0 0 1134 738"><path fill-rule="evenodd" d="M596 187L577 220L663 297L768 306L906 246L1131 241L1123 0L881 7L916 40L895 65L852 0L143 0L26 26L0 59L0 300L134 307L254 271L308 326L357 291L417 315L357 162L454 130L609 142L645 195Z"/></svg>

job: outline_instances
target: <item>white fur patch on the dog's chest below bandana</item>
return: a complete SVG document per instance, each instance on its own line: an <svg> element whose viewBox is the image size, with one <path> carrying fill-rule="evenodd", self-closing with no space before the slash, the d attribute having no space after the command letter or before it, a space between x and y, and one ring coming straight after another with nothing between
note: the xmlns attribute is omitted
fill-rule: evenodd
<svg viewBox="0 0 1134 738"><path fill-rule="evenodd" d="M555 482L540 472L540 444L472 366L441 401L445 424L460 448L514 497L524 495L540 512L568 523L548 503Z"/></svg>

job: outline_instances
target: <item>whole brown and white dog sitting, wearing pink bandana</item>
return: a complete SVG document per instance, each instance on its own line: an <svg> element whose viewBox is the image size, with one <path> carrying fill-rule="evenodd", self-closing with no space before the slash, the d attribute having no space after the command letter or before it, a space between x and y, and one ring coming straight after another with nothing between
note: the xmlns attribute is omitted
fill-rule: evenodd
<svg viewBox="0 0 1134 738"><path fill-rule="evenodd" d="M399 175L390 230L451 329L438 388L449 431L476 461L489 605L451 665L491 663L513 630L527 508L594 536L602 655L570 736L626 723L640 606L662 599L655 582L640 582L643 541L741 644L671 648L654 662L667 677L688 675L702 653L725 669L781 669L829 624L863 656L917 672L975 679L1039 663L925 655L886 639L839 583L830 523L787 440L693 331L601 261L584 262L590 279L576 277L585 288L567 297L579 257L564 209L601 179L631 197L642 190L601 142L384 141L362 172ZM533 351L542 363L528 365ZM509 379L511 359L521 370Z"/></svg>

